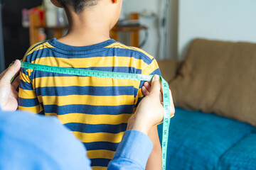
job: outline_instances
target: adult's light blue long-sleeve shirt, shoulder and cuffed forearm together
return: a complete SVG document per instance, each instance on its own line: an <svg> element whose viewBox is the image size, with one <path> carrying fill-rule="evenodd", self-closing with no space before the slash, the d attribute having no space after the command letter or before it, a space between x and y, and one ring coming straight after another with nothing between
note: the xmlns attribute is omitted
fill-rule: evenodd
<svg viewBox="0 0 256 170"><path fill-rule="evenodd" d="M145 169L148 136L124 132L108 169ZM91 169L86 149L57 118L0 108L0 169Z"/></svg>

